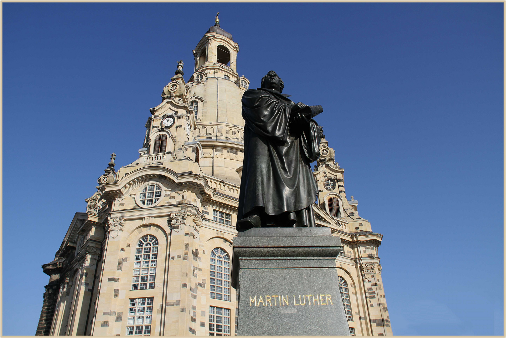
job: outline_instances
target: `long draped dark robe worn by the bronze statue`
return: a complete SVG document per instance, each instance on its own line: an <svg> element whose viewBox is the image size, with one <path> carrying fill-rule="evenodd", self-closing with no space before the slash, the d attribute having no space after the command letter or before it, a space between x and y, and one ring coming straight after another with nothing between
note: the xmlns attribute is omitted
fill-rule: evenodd
<svg viewBox="0 0 506 338"><path fill-rule="evenodd" d="M310 163L320 155L318 123L289 123L292 107L291 100L269 89L249 89L242 96L244 162L238 220L255 207L280 215L316 201Z"/></svg>

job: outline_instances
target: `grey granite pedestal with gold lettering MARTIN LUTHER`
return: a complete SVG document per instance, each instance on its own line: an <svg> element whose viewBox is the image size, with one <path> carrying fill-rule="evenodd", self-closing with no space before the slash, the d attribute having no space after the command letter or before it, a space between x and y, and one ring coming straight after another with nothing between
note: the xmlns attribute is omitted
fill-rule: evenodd
<svg viewBox="0 0 506 338"><path fill-rule="evenodd" d="M350 335L329 228L254 228L233 245L238 335Z"/></svg>

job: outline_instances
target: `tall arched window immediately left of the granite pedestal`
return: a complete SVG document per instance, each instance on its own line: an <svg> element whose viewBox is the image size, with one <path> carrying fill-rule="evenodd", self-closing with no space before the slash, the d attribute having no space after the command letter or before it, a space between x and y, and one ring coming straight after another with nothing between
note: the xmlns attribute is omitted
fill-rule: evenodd
<svg viewBox="0 0 506 338"><path fill-rule="evenodd" d="M209 298L230 302L230 257L221 247L211 251Z"/></svg>

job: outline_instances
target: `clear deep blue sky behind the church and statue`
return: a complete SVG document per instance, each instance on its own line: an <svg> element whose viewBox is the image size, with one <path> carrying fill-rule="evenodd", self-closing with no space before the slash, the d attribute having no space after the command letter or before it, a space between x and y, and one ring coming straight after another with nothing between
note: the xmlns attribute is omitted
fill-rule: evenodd
<svg viewBox="0 0 506 338"><path fill-rule="evenodd" d="M382 233L396 335L503 334L502 3L3 3L3 334L35 333L109 154L220 12L239 75L321 104L348 198Z"/></svg>

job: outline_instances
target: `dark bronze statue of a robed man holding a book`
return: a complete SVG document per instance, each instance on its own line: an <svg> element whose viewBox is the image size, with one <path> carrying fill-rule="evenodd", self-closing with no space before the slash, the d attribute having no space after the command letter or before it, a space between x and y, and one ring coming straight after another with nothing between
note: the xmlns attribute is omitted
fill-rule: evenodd
<svg viewBox="0 0 506 338"><path fill-rule="evenodd" d="M319 155L321 106L293 103L274 71L242 96L244 162L237 231L314 227L318 188L310 163Z"/></svg>

